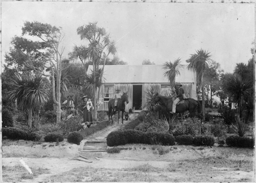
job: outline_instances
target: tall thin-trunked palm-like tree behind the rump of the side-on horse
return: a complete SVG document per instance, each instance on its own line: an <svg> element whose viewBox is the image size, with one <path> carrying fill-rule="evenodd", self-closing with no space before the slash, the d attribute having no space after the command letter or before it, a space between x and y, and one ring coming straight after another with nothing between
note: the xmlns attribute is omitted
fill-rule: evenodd
<svg viewBox="0 0 256 183"><path fill-rule="evenodd" d="M193 70L197 73L197 85L199 88L202 88L202 112L203 112L203 120L205 117L204 110L204 70L209 67L209 63L211 63L212 59L210 58L210 52L206 52L205 50L197 50L195 54L192 54L191 57L187 60L189 65L187 68L189 70Z"/></svg>

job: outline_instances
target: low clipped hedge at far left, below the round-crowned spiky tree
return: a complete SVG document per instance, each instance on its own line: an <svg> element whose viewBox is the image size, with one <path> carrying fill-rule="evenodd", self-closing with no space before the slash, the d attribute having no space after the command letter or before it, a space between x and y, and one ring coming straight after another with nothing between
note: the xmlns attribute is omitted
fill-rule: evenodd
<svg viewBox="0 0 256 183"><path fill-rule="evenodd" d="M39 141L41 136L35 132L27 133L24 130L20 130L15 127L8 127L2 129L2 136L7 136L7 138L13 140L31 140L31 141Z"/></svg>

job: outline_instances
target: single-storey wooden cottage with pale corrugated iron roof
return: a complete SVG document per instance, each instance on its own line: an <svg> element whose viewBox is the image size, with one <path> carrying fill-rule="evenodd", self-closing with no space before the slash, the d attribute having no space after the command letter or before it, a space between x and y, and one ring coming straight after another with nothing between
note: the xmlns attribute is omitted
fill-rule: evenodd
<svg viewBox="0 0 256 183"><path fill-rule="evenodd" d="M92 70L93 66L90 65L87 73ZM113 98L117 88L121 92L128 91L129 103L126 111L133 107L135 110L142 110L145 92L150 88L154 88L161 95L169 96L170 82L163 73L163 65L105 65L105 80L100 93L103 105L99 106L99 110L108 110L108 101ZM180 75L176 76L176 82L182 83L187 98L197 100L195 72L187 70L186 67L182 68Z"/></svg>

